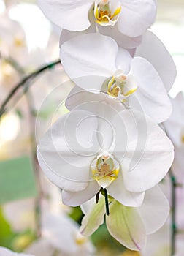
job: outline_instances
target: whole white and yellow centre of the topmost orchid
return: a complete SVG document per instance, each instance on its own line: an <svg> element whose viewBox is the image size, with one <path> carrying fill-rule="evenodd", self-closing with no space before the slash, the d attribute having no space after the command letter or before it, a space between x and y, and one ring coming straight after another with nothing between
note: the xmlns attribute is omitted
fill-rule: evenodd
<svg viewBox="0 0 184 256"><path fill-rule="evenodd" d="M94 16L96 23L101 26L114 26L118 21L120 11L121 5L114 8L110 0L95 1Z"/></svg>

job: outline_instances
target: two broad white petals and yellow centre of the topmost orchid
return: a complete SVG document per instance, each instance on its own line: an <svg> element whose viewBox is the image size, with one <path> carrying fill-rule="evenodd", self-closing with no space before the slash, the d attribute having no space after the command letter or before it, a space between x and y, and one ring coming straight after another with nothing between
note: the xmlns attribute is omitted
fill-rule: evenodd
<svg viewBox="0 0 184 256"><path fill-rule="evenodd" d="M156 18L155 0L39 0L39 7L53 23L63 29L83 31L96 22L117 26L120 33L138 37Z"/></svg>

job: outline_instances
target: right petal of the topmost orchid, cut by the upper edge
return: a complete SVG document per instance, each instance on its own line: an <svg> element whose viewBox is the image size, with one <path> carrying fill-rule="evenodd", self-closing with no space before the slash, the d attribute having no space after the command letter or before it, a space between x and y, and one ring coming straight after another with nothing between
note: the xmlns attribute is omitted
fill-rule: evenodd
<svg viewBox="0 0 184 256"><path fill-rule="evenodd" d="M129 37L141 36L155 21L156 1L120 1L122 10L117 23L118 29Z"/></svg>

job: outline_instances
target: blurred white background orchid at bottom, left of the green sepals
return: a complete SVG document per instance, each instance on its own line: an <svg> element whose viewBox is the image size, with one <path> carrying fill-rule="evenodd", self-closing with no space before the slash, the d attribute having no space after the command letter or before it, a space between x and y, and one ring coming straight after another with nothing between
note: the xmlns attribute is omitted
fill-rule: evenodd
<svg viewBox="0 0 184 256"><path fill-rule="evenodd" d="M93 255L95 249L91 241L80 234L79 225L66 214L44 213L42 216L42 238L39 238L26 252L36 256Z"/></svg>

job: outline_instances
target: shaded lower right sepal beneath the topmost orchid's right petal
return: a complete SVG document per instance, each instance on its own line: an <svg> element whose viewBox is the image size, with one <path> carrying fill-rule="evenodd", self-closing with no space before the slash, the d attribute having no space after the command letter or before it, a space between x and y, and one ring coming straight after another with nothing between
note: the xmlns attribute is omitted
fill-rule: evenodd
<svg viewBox="0 0 184 256"><path fill-rule="evenodd" d="M142 37L127 37L120 33L118 26L98 26L100 34L104 36L112 37L117 42L118 46L126 49L136 48L142 41Z"/></svg>

